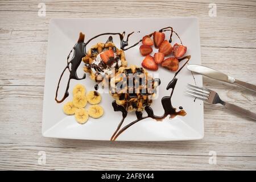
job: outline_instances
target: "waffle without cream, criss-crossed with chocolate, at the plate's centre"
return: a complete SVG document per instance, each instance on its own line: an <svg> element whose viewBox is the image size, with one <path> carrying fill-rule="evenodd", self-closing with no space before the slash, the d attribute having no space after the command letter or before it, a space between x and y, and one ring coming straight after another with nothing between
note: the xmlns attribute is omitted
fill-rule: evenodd
<svg viewBox="0 0 256 182"><path fill-rule="evenodd" d="M146 69L131 65L118 69L110 80L109 91L117 104L127 111L142 111L152 103L159 84Z"/></svg>

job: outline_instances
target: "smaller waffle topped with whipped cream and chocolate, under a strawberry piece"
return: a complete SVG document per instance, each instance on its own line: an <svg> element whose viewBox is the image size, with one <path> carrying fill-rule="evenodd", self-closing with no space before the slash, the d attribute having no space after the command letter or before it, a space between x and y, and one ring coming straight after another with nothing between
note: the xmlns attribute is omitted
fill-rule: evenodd
<svg viewBox="0 0 256 182"><path fill-rule="evenodd" d="M114 61L112 64L105 64L101 60L100 53L113 49ZM113 72L117 72L119 67L126 67L127 61L125 59L125 52L115 47L115 44L111 41L106 43L97 43L92 46L85 57L82 58L85 63L84 71L90 74L90 78L96 82L110 80L110 76Z"/></svg>

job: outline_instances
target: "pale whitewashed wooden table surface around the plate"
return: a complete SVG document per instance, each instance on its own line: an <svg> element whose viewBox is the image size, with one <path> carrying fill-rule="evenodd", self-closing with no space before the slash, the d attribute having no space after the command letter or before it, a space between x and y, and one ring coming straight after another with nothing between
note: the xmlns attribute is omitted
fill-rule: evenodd
<svg viewBox="0 0 256 182"><path fill-rule="evenodd" d="M205 137L183 142L101 142L41 134L51 18L197 16L202 64L256 84L256 2L0 1L0 169L256 169L256 124L217 105L204 106ZM256 112L253 92L210 80L229 102ZM46 164L38 163L40 151ZM210 151L213 151L211 153ZM210 152L210 153L209 153ZM217 163L209 164L216 152Z"/></svg>

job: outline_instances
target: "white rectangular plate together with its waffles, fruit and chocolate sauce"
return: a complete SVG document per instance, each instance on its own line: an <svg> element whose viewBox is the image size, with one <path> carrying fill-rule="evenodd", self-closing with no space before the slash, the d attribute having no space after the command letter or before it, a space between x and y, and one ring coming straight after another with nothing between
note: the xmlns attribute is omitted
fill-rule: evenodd
<svg viewBox="0 0 256 182"><path fill-rule="evenodd" d="M185 88L202 86L202 77L189 64L201 64L196 18L52 19L42 134L201 139L203 102Z"/></svg>

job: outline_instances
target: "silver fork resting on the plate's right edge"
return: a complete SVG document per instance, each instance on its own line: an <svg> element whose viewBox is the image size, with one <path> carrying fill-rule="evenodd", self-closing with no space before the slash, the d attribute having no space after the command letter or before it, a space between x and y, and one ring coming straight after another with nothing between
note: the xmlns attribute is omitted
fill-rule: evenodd
<svg viewBox="0 0 256 182"><path fill-rule="evenodd" d="M234 111L238 114L244 115L246 117L249 117L251 119L256 120L256 114L243 109L242 107L239 107L234 104L230 104L228 102L224 102L221 100L221 98L218 96L218 93L214 92L213 90L203 88L201 86L195 86L188 84L187 86L187 94L194 96L196 98L199 98L200 100L209 102L209 104L221 104L226 107L226 109Z"/></svg>

